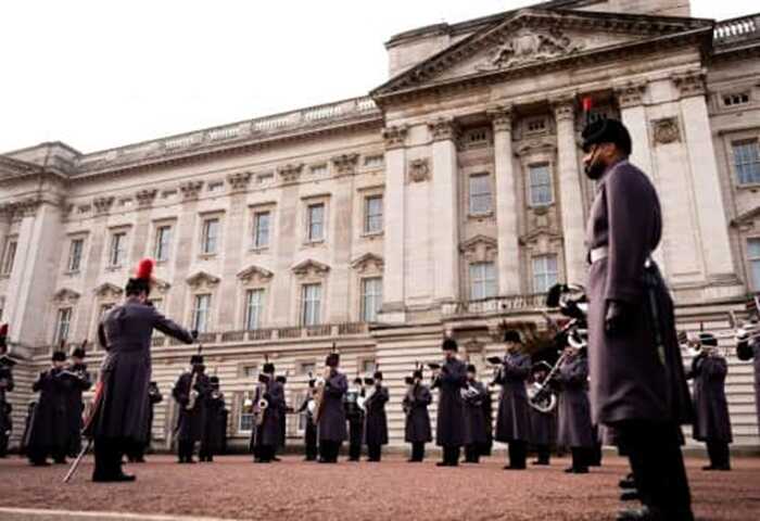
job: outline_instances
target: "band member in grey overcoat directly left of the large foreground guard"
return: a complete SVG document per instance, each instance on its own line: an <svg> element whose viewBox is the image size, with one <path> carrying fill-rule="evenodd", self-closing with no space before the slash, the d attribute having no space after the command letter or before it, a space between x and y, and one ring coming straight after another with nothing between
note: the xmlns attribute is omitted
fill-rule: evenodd
<svg viewBox="0 0 760 521"><path fill-rule="evenodd" d="M559 427L557 445L570 447L572 466L566 472L588 472L588 457L594 448L594 429L588 403L588 359L585 350L565 348L565 358L556 380L559 387Z"/></svg>

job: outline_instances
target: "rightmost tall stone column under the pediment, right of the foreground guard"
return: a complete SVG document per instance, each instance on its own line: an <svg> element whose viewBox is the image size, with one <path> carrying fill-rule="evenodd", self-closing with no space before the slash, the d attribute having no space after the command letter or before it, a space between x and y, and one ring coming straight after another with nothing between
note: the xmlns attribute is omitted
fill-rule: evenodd
<svg viewBox="0 0 760 521"><path fill-rule="evenodd" d="M729 223L723 206L710 119L701 72L674 78L681 91L686 150L692 171L697 219L708 281L735 281L736 274L729 241Z"/></svg>

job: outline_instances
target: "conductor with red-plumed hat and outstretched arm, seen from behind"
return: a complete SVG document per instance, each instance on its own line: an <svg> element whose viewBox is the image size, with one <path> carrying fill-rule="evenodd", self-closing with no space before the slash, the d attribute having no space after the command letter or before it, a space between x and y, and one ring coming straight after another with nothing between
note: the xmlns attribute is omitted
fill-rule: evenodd
<svg viewBox="0 0 760 521"><path fill-rule="evenodd" d="M153 264L140 262L127 282L124 304L101 319L98 340L105 350L93 414L85 434L94 439L93 481L132 481L122 472L122 457L135 443L144 443L150 401L151 339L153 330L190 344L194 335L162 315L148 300Z"/></svg>

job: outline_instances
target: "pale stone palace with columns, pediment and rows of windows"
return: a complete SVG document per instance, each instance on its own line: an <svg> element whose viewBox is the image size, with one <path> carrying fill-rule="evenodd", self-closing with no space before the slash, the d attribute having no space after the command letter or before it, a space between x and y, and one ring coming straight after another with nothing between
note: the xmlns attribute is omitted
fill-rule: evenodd
<svg viewBox="0 0 760 521"><path fill-rule="evenodd" d="M297 406L335 343L350 376L380 365L401 443L403 377L440 358L443 334L487 371L499 322L541 331L542 293L584 280L587 96L628 125L632 161L658 188L655 256L680 327L727 332L760 291L760 15L555 0L414 29L387 49L390 79L367 97L93 153L52 142L0 156L0 313L23 358L16 440L51 345L93 339L152 256L155 305L203 332L232 439L248 436L265 354ZM154 339L165 395L194 350ZM751 383L732 353L735 437L757 445ZM157 407L159 446L175 415L170 399ZM297 436L299 418L288 429Z"/></svg>

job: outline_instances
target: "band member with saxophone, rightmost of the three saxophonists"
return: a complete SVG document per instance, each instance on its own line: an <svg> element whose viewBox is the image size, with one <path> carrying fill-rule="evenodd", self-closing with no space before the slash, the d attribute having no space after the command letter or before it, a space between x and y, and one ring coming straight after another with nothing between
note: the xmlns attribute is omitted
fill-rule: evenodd
<svg viewBox="0 0 760 521"><path fill-rule="evenodd" d="M343 395L349 389L345 374L338 370L340 355L330 353L325 360L325 387L317 431L319 433L319 462L337 463L341 444L346 439Z"/></svg>

